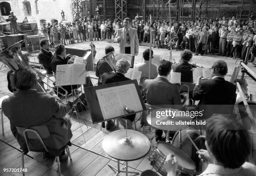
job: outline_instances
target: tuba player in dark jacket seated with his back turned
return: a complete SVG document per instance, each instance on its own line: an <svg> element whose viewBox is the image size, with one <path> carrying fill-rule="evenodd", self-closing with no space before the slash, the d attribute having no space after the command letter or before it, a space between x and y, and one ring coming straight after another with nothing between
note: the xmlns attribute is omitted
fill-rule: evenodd
<svg viewBox="0 0 256 176"><path fill-rule="evenodd" d="M28 128L31 126L47 126L50 137L44 139L49 152L59 155L72 137L71 121L66 118L66 106L54 91L38 92L36 90L36 73L29 68L20 68L13 75L13 85L17 90L13 96L2 103L4 114L10 120L10 128L23 151L28 151L25 140L15 126ZM41 143L31 141L35 148ZM40 144L40 146L38 146ZM64 154L64 153L62 153Z"/></svg>

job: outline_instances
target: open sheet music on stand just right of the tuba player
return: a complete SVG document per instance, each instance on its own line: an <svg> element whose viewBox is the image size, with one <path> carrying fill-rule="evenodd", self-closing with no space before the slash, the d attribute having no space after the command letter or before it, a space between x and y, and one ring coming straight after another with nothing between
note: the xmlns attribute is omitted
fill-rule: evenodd
<svg viewBox="0 0 256 176"><path fill-rule="evenodd" d="M56 86L85 84L85 63L57 65Z"/></svg>

